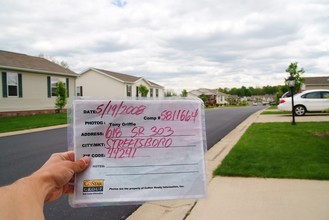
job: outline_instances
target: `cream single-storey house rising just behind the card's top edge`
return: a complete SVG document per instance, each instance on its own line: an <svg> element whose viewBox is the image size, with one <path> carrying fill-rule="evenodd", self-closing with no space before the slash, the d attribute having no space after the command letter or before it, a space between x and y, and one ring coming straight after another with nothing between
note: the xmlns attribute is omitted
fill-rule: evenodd
<svg viewBox="0 0 329 220"><path fill-rule="evenodd" d="M77 95L84 97L104 97L125 99L142 97L138 87L144 85L148 90L147 97L164 97L164 87L143 77L136 77L108 70L89 68L77 79Z"/></svg>

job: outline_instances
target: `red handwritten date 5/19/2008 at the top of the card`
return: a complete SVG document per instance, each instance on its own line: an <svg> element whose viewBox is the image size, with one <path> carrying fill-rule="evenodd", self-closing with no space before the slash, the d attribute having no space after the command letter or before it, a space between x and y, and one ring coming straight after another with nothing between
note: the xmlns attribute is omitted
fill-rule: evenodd
<svg viewBox="0 0 329 220"><path fill-rule="evenodd" d="M117 115L140 115L144 113L145 109L145 105L125 104L124 101L114 104L112 101L109 101L106 105L101 104L97 106L96 111L101 115L101 118L104 115L111 115L115 118Z"/></svg>

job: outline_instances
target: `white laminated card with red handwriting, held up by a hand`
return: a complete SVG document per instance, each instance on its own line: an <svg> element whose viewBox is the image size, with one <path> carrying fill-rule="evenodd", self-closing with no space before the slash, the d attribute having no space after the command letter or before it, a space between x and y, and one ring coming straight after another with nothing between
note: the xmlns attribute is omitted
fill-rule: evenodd
<svg viewBox="0 0 329 220"><path fill-rule="evenodd" d="M91 157L73 207L205 196L201 100L74 100L71 125L76 159Z"/></svg>

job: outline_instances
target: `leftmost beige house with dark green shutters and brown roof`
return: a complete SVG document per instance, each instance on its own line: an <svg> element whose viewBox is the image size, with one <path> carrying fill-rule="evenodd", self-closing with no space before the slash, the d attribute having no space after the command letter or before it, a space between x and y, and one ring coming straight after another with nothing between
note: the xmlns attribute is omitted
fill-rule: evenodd
<svg viewBox="0 0 329 220"><path fill-rule="evenodd" d="M78 75L44 58L0 50L0 72L0 116L54 112L59 81L76 93Z"/></svg>

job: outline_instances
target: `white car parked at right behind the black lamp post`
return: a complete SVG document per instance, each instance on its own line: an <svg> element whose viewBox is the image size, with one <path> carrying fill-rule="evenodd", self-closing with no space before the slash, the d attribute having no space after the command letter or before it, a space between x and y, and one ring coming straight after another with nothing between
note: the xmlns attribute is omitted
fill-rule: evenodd
<svg viewBox="0 0 329 220"><path fill-rule="evenodd" d="M281 111L291 111L291 97L281 98L278 109ZM305 115L306 112L321 112L329 109L329 90L313 89L306 90L294 95L295 115Z"/></svg>

